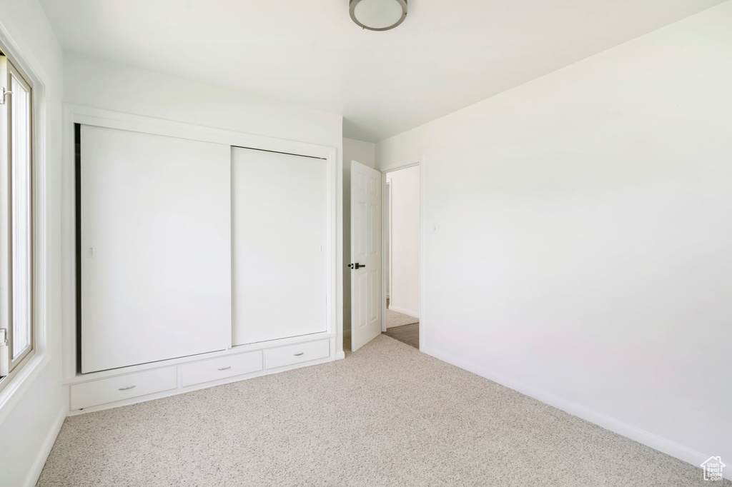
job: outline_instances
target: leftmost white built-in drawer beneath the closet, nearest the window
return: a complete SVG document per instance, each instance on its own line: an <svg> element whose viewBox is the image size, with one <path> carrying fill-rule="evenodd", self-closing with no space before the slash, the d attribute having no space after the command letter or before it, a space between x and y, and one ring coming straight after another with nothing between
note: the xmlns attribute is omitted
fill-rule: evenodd
<svg viewBox="0 0 732 487"><path fill-rule="evenodd" d="M71 386L71 409L98 406L178 387L175 367L92 380Z"/></svg>

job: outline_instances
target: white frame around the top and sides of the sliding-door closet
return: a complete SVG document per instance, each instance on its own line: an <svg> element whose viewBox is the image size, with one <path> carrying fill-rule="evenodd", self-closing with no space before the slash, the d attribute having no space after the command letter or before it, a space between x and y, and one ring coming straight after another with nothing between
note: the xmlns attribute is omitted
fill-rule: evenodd
<svg viewBox="0 0 732 487"><path fill-rule="evenodd" d="M77 302L76 276L76 181L75 181L75 124L95 127L122 129L152 135L165 135L202 142L220 143L228 146L255 148L264 151L285 152L300 156L318 157L327 163L327 204L328 224L326 226L326 334L332 335L335 358L343 358L343 346L335 336L343 335L342 273L337 263L342 260L342 188L338 182L343 178L338 164L337 149L329 146L301 143L292 140L264 137L244 132L236 132L214 127L203 127L183 122L168 121L160 118L131 115L94 107L64 104L63 124L63 208L61 219L64 228L62 235L62 279L64 303ZM64 346L63 377L70 381L77 376L78 342L76 306L67 306L62 314L62 341ZM236 347L231 350L236 350ZM155 366L155 364L151 364ZM162 364L158 364L160 366Z"/></svg>

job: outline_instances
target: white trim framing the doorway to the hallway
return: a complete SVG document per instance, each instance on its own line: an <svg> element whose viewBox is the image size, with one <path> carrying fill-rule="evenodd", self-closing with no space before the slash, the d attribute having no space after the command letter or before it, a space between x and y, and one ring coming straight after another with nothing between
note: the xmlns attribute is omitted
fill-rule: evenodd
<svg viewBox="0 0 732 487"><path fill-rule="evenodd" d="M403 161L385 165L384 167L378 167L377 169L381 171L381 195L382 201L384 202L381 205L381 227L383 229L381 231L381 247L383 249L386 246L386 232L389 231L386 227L386 173L393 173L394 171L413 166L419 167L419 349L422 350L423 337L425 336L425 271L422 268L425 252L425 156L414 156ZM390 259L391 253L389 253ZM382 263L381 279L383 282L383 290L386 289L385 265L388 264ZM389 273L389 278L391 278L391 273ZM389 292L391 292L391 288L389 288ZM381 330L386 331L386 292L381 292L381 300L381 312L384 317Z"/></svg>

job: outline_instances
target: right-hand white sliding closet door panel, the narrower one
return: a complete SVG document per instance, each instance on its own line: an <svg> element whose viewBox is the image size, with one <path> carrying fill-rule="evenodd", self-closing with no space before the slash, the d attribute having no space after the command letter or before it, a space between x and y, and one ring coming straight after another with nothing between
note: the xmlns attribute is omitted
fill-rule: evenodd
<svg viewBox="0 0 732 487"><path fill-rule="evenodd" d="M231 151L234 344L326 331L326 161Z"/></svg>

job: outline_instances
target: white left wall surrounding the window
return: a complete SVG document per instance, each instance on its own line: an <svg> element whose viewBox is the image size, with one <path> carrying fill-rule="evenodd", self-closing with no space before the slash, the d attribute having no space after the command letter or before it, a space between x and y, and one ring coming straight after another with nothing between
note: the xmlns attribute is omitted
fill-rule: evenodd
<svg viewBox="0 0 732 487"><path fill-rule="evenodd" d="M38 333L47 332L29 366L0 393L0 485L34 485L68 410L61 386L61 47L36 0L0 0L0 38L20 58L31 77L45 86L37 135L44 148L36 174L41 192L37 203L42 231L36 265L45 273L37 282L40 314ZM41 338L39 338L41 339ZM36 365L37 364L37 365ZM23 375L29 374L27 380ZM10 392L14 385L18 390ZM10 394L10 395L9 395Z"/></svg>

